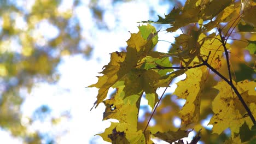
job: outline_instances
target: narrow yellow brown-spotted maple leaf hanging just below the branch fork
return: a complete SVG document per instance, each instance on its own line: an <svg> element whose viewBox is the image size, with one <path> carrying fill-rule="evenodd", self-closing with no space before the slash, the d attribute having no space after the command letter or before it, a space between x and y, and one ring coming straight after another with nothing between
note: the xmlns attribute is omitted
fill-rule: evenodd
<svg viewBox="0 0 256 144"><path fill-rule="evenodd" d="M179 112L182 119L182 125L185 126L197 122L200 116L201 92L206 77L206 67L189 69L185 72L185 80L177 83L174 93L179 98L186 99L185 105Z"/></svg>

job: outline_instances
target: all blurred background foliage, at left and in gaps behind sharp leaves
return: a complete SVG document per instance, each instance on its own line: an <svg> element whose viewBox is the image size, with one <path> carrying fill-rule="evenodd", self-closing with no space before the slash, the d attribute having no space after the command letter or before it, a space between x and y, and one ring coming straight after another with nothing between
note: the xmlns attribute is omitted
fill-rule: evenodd
<svg viewBox="0 0 256 144"><path fill-rule="evenodd" d="M130 1L114 0L112 4L124 2ZM159 2L169 3L170 10L173 5L181 5L179 1ZM75 9L82 3L82 1L74 0L72 5L66 9L61 7L61 0L0 1L0 127L20 137L25 143L42 143L42 139L44 143L55 143L56 138L39 131L31 133L27 129L27 124L22 124L20 108L26 93L30 93L31 88L37 82L54 84L59 80L60 74L57 73L56 67L61 63L62 56L82 53L85 59L90 59L91 52L94 50L94 45L90 43L88 37L83 35L86 29L82 24L86 25L86 23L80 22L78 14L75 13ZM107 20L103 19L106 10L104 5L98 5L98 0L91 0L86 7L90 8L95 28L104 29L104 31L111 30L106 25ZM156 17L154 9L150 11L150 15ZM230 25L226 26L223 31L228 31ZM160 27L162 26L156 25L156 28ZM184 27L183 32L187 33L191 27ZM51 33L44 33L44 31ZM93 34L93 31L89 33ZM231 38L255 40L256 35L235 33L231 35ZM246 43L241 41L231 42L231 52L235 56L231 55L230 61L237 81L252 80L253 76L255 79L253 69L248 67L248 65L253 67L255 57L249 56L248 51L241 49L245 46ZM179 63L178 59L172 59L172 62ZM220 72L227 75L226 71L225 62L222 61ZM217 80L216 77L209 75L206 81L201 104L202 119L211 116L210 101L217 95L217 91L208 93L207 89L211 89ZM150 126L152 131L178 129L173 123L174 119L179 117L178 111L182 107L178 102L175 95L165 96L153 117L155 124ZM59 118L51 117L50 114L51 108L48 105L39 105L33 116L28 118L28 125L38 119L39 121L51 121L53 125L57 124ZM139 128L145 127L149 116L150 111L146 110L140 118ZM62 113L61 117L69 117L69 115ZM221 136L211 135L211 130L202 127L199 122L195 130L200 129L202 129L201 133L206 135L205 137L211 137L211 139L201 139L205 143L223 142L229 135L228 132Z"/></svg>

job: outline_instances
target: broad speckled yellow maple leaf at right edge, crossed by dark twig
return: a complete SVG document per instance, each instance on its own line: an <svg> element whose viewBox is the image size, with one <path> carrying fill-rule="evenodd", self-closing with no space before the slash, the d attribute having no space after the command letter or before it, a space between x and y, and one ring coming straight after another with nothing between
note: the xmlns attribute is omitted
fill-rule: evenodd
<svg viewBox="0 0 256 144"><path fill-rule="evenodd" d="M256 87L256 82L249 82L247 80L237 82L235 84L242 98L249 104L252 113L256 116L255 103L256 92L253 90ZM214 88L219 90L218 95L212 102L212 110L214 112L213 117L209 124L213 124L213 133L220 134L226 128L230 128L232 132L239 133L239 129L244 122L247 122L249 128L253 123L248 117L244 117L246 114L245 108L240 105L240 101L237 95L232 93L231 88L225 81L220 81Z"/></svg>

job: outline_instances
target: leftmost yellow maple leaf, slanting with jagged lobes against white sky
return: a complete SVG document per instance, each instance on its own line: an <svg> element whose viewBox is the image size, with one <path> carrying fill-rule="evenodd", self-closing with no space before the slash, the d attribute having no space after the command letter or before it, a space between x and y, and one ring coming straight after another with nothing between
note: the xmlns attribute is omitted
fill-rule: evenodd
<svg viewBox="0 0 256 144"><path fill-rule="evenodd" d="M127 52L111 53L110 62L103 67L104 70L101 72L103 76L98 77L96 84L89 86L99 88L97 100L94 103L96 107L107 97L108 89L130 70L136 68L137 62L146 57L147 53L155 46L156 36L148 39L149 32L156 33L155 28L148 24L139 29L142 29L142 32L132 33L131 38L127 40Z"/></svg>

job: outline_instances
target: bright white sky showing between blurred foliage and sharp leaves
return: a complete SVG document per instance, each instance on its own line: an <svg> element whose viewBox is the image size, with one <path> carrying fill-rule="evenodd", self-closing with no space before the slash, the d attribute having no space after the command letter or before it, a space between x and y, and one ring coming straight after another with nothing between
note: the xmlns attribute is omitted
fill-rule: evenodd
<svg viewBox="0 0 256 144"><path fill-rule="evenodd" d="M59 9L68 9L71 2L63 1ZM39 130L49 135L59 136L57 143L108 143L104 142L100 136L94 136L102 133L110 125L109 121L102 121L105 106L100 104L97 109L90 111L96 101L98 89L86 87L97 82L96 75L102 71L103 65L108 64L109 53L126 47L126 40L130 38L129 31L131 33L138 31L138 21L157 19L157 15L149 16L150 9L154 9L156 14L161 16L170 12L167 4L154 0L117 3L114 6L110 3L110 0L102 0L98 4L107 9L103 19L110 31L97 29L91 11L86 6L88 1L84 1L83 5L75 9L80 24L83 26L83 37L94 47L92 56L89 60L84 59L82 55L63 57L57 68L61 74L60 81L56 85L38 83L32 92L26 95L26 100L22 105L24 116L21 123L27 125L27 118L31 117L34 110L43 104L49 105L53 117L59 117L65 111L69 111L71 116L70 118L63 117L61 123L56 126L50 124L50 119L49 121L46 119L46 122L35 122L30 126L31 132ZM56 29L54 30L47 22L42 22L39 27L44 37L55 37L54 34L58 33L58 31L54 32ZM50 27L51 34L46 27ZM163 27L159 32L159 40L173 41L176 35L162 31L164 29L166 28ZM169 47L170 43L160 41L156 50L167 52ZM172 87L177 86L173 84ZM168 93L173 90L168 89ZM159 95L161 92L162 89L159 90ZM184 104L184 101L181 101L182 103ZM147 105L147 101L143 100L142 104ZM174 122L178 125L181 120L176 118ZM203 123L208 124L207 121ZM63 134L65 130L67 132ZM189 136L194 135L195 133L191 133ZM22 143L21 140L1 129L0 137L4 143Z"/></svg>

